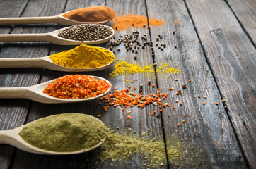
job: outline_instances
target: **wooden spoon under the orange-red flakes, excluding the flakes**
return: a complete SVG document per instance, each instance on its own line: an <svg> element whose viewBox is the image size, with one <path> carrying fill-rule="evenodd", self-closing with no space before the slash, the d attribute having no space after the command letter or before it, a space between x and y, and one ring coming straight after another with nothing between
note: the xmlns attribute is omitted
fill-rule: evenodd
<svg viewBox="0 0 256 169"><path fill-rule="evenodd" d="M105 80L102 77L91 76L95 79ZM56 79L55 79L56 80ZM44 82L41 84L35 84L30 87L0 87L0 99L31 99L45 104L62 104L62 103L74 103L81 101L91 101L97 99L110 91L111 87L103 94L87 99L59 99L57 97L49 96L42 91L47 87L48 84L52 83L53 80ZM111 84L108 80L107 83Z"/></svg>

